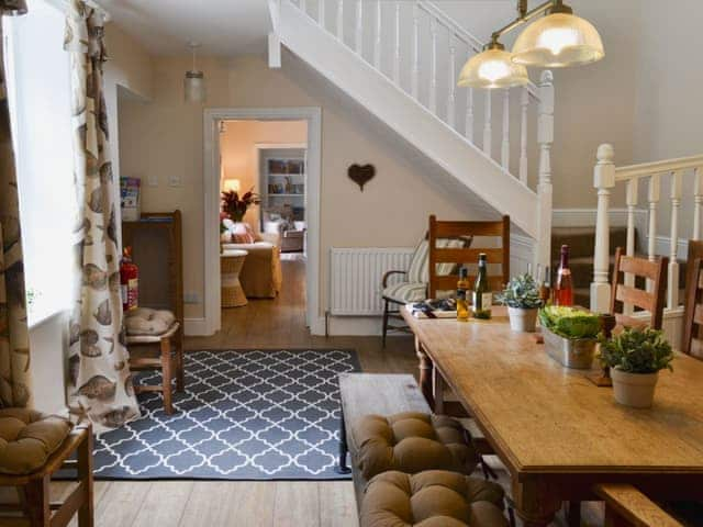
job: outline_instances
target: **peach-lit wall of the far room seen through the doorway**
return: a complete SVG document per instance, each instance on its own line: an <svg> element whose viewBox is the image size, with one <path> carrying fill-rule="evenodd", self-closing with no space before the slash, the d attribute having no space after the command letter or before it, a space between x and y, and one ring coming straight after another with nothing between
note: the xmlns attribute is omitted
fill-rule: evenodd
<svg viewBox="0 0 703 527"><path fill-rule="evenodd" d="M227 121L220 135L223 179L238 179L246 192L259 188L259 159L257 144L306 144L305 121ZM222 188L222 183L221 183ZM244 220L259 231L259 206L249 208Z"/></svg>

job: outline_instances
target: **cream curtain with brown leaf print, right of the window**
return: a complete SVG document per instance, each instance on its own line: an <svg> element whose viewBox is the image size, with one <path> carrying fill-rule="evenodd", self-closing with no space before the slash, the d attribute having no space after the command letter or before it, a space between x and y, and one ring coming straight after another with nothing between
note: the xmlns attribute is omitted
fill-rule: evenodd
<svg viewBox="0 0 703 527"><path fill-rule="evenodd" d="M114 182L103 96L102 15L71 0L65 47L70 53L75 178L75 307L70 319L71 413L100 433L140 415L122 326Z"/></svg>

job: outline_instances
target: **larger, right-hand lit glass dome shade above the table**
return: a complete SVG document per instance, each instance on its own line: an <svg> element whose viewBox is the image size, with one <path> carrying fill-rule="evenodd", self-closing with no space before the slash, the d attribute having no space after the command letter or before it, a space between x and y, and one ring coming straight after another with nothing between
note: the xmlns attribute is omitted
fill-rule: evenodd
<svg viewBox="0 0 703 527"><path fill-rule="evenodd" d="M581 66L604 56L603 41L593 24L569 13L553 13L534 22L513 46L514 63L542 68Z"/></svg>

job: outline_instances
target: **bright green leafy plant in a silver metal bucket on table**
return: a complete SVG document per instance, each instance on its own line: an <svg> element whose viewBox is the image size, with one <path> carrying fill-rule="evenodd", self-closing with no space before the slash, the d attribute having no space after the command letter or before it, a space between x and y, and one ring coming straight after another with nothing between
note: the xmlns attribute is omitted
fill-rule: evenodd
<svg viewBox="0 0 703 527"><path fill-rule="evenodd" d="M576 307L549 305L539 310L547 354L567 368L591 369L601 318Z"/></svg>

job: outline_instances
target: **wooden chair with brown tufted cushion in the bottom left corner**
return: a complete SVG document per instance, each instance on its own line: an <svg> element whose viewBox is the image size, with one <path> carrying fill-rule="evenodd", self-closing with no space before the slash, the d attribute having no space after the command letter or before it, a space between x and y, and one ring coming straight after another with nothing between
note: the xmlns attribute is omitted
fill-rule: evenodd
<svg viewBox="0 0 703 527"><path fill-rule="evenodd" d="M70 460L75 456L76 460ZM59 469L77 470L78 485L63 503L49 501L49 482ZM0 486L20 493L18 505L3 504L0 525L65 527L93 525L92 431L25 408L0 410ZM21 514L22 516L18 516Z"/></svg>

